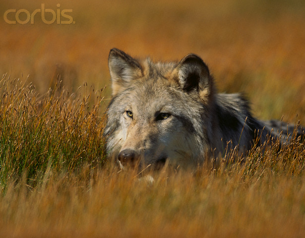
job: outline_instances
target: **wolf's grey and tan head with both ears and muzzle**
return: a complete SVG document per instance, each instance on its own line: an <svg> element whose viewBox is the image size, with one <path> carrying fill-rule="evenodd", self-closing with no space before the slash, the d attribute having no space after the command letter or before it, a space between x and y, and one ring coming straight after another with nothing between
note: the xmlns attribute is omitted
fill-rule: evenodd
<svg viewBox="0 0 305 238"><path fill-rule="evenodd" d="M109 156L121 165L196 165L209 140L214 87L207 65L189 54L180 62L109 54L112 101L104 135Z"/></svg>

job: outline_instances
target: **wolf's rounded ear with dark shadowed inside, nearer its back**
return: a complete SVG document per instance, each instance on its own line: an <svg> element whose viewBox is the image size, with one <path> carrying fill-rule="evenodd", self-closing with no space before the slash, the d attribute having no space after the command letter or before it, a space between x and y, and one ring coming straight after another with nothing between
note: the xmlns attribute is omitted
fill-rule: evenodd
<svg viewBox="0 0 305 238"><path fill-rule="evenodd" d="M189 54L185 56L174 69L176 78L183 91L197 91L199 97L206 101L212 93L212 77L208 66L200 57Z"/></svg>

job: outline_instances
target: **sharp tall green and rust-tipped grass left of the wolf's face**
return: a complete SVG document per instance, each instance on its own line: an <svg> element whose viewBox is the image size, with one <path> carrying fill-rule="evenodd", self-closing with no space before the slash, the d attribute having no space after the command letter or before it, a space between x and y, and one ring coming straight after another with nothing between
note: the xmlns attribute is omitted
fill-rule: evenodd
<svg viewBox="0 0 305 238"><path fill-rule="evenodd" d="M31 185L49 169L71 173L101 165L102 90L84 85L70 95L58 81L39 95L26 83L6 75L0 81L0 184L25 173Z"/></svg>

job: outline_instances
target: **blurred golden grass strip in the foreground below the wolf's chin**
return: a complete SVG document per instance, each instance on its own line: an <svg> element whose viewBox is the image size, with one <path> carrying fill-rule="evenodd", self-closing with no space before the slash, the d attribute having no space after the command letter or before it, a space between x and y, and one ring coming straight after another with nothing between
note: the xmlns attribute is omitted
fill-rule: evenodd
<svg viewBox="0 0 305 238"><path fill-rule="evenodd" d="M0 198L0 235L303 237L304 173L292 176L269 162L251 176L247 165L158 173L150 186L135 173L105 167L97 174L47 173L34 189L23 178L9 182Z"/></svg>

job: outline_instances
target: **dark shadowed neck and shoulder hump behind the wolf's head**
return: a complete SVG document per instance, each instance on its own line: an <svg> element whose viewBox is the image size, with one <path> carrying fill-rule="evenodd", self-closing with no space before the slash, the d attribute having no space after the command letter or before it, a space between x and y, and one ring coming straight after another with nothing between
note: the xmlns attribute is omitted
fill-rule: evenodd
<svg viewBox="0 0 305 238"><path fill-rule="evenodd" d="M262 126L251 116L247 101L240 94L217 94L213 101L212 129L208 131L211 147L217 154L223 154L226 147L249 149L255 136L254 125Z"/></svg>

